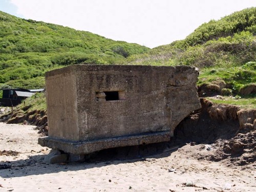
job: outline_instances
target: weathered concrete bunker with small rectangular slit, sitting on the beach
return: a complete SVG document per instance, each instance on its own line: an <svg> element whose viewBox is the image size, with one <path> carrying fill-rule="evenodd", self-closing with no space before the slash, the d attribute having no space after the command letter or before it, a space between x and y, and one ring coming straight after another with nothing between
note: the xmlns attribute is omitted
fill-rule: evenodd
<svg viewBox="0 0 256 192"><path fill-rule="evenodd" d="M145 140L159 133L162 139L158 135L157 140L147 142L166 141L178 123L201 106L197 77L196 68L187 66L75 65L48 72L49 138L39 143L48 146L52 139L56 142L49 147L61 149L55 146L56 139L108 142L117 137L138 140L143 135ZM110 97L114 100L108 100ZM124 141L117 146L140 142ZM116 146L110 143L105 147ZM61 147L67 151L66 145ZM96 148L76 153L94 150Z"/></svg>

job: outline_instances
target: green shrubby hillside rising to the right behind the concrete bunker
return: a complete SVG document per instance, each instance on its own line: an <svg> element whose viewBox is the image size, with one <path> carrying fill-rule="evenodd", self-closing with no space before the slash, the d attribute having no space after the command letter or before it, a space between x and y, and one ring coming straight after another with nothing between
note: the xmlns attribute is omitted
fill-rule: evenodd
<svg viewBox="0 0 256 192"><path fill-rule="evenodd" d="M223 95L239 95L236 99L250 97L256 104L256 8L210 20L184 40L131 55L126 64L196 66L199 87L208 86L219 94L223 89Z"/></svg>

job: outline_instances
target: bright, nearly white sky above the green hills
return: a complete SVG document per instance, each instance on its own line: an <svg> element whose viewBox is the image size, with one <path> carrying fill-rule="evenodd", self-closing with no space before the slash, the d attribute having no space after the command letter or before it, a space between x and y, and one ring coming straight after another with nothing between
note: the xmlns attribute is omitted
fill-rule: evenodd
<svg viewBox="0 0 256 192"><path fill-rule="evenodd" d="M255 0L0 0L0 10L154 48Z"/></svg>

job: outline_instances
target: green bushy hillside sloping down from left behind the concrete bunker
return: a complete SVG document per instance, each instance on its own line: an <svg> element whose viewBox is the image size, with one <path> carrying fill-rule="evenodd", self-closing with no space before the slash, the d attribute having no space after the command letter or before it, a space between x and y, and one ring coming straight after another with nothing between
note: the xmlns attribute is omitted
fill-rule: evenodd
<svg viewBox="0 0 256 192"><path fill-rule="evenodd" d="M0 90L43 88L46 71L76 63L115 64L149 48L0 11Z"/></svg>

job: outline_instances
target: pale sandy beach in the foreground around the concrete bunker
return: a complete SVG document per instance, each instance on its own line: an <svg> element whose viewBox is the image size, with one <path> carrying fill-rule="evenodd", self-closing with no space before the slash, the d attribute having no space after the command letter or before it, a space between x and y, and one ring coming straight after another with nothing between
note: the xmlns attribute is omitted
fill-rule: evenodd
<svg viewBox="0 0 256 192"><path fill-rule="evenodd" d="M0 191L256 191L255 166L198 160L202 145L151 156L44 163L35 126L0 123Z"/></svg>

